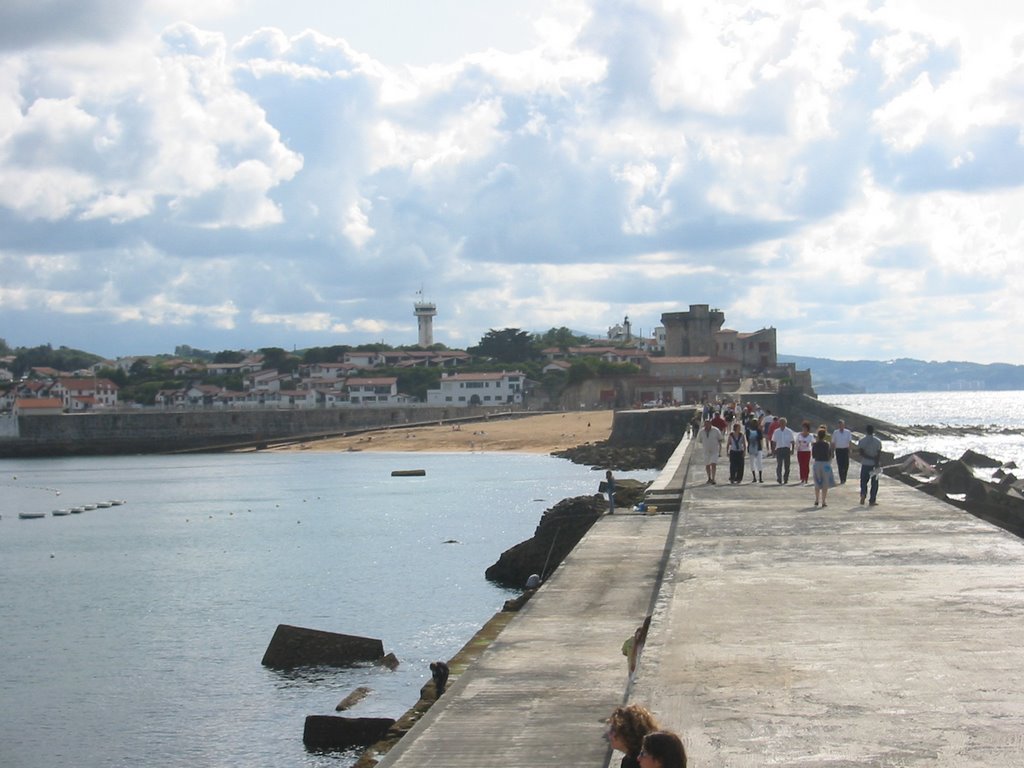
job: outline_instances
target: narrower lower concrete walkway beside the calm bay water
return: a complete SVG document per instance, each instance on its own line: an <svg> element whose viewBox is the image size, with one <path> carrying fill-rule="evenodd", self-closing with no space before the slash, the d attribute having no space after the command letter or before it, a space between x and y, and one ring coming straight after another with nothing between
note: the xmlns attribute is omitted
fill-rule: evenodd
<svg viewBox="0 0 1024 768"><path fill-rule="evenodd" d="M622 645L648 614L673 522L599 520L379 765L605 765L603 721L627 687Z"/></svg>

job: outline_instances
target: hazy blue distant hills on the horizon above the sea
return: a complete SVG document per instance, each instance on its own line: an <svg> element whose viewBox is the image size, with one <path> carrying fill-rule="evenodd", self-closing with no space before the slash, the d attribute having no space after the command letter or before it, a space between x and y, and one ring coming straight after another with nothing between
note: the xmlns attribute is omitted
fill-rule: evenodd
<svg viewBox="0 0 1024 768"><path fill-rule="evenodd" d="M1024 389L1024 366L996 362L929 362L895 360L831 360L780 354L780 362L810 369L818 394L860 392L937 392L948 390Z"/></svg>

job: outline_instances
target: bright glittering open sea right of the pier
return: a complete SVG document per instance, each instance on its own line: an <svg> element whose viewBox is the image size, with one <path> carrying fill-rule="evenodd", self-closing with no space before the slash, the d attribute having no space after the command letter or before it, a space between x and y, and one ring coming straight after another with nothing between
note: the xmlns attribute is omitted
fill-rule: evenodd
<svg viewBox="0 0 1024 768"><path fill-rule="evenodd" d="M823 395L822 402L897 426L955 427L885 440L896 456L934 451L958 459L976 451L1024 468L1024 391Z"/></svg>

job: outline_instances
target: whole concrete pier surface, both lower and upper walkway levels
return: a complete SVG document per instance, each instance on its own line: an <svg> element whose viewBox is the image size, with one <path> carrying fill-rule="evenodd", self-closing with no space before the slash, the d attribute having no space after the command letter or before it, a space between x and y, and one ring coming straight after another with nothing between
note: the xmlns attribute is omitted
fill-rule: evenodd
<svg viewBox="0 0 1024 768"><path fill-rule="evenodd" d="M891 478L860 506L856 464L823 509L796 462L685 467L678 514L599 520L381 765L617 765L624 700L697 768L1024 765L1024 542Z"/></svg>

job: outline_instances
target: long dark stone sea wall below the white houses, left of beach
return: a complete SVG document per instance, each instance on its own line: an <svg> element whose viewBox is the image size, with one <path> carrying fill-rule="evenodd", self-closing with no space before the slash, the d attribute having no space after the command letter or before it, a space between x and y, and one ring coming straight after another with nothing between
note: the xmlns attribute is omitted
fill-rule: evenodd
<svg viewBox="0 0 1024 768"><path fill-rule="evenodd" d="M505 409L507 410L507 409ZM479 419L486 409L367 407L302 411L134 411L23 416L0 458L217 451L369 429Z"/></svg>

